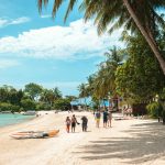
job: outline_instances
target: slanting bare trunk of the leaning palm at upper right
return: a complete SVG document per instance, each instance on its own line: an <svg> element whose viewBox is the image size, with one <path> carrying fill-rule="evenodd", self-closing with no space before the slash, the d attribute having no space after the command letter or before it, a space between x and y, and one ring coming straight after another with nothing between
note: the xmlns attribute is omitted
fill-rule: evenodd
<svg viewBox="0 0 165 165"><path fill-rule="evenodd" d="M147 32L145 31L144 26L142 25L141 21L139 20L139 18L136 16L135 12L133 11L131 4L129 3L128 0L123 0L124 6L127 7L130 15L132 16L132 19L134 20L136 26L139 28L139 30L141 31L141 33L143 34L144 38L146 40L146 42L148 43L151 50L154 52L161 68L165 75L165 61L163 58L163 56L160 53L158 47L156 46L156 44L154 44L155 42L152 41L152 38L150 37L150 35L147 34Z"/></svg>

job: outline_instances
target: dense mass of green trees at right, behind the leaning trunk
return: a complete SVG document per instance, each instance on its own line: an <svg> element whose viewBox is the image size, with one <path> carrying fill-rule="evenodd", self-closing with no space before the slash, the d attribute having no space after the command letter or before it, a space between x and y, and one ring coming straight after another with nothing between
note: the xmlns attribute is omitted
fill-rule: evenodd
<svg viewBox="0 0 165 165"><path fill-rule="evenodd" d="M106 53L106 61L90 76L86 90L90 91L95 102L121 97L127 105L132 106L134 116L148 112L157 117L156 110L146 111L146 106L154 101L156 95L163 96L165 75L140 33L132 36L125 32L122 40L127 48L113 48L109 54ZM163 41L164 35L160 35L160 45Z"/></svg>

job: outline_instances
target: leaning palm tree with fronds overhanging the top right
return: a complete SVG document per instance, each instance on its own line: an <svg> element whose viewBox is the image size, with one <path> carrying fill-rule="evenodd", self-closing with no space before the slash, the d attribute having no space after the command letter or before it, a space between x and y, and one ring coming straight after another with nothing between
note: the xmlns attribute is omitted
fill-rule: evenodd
<svg viewBox="0 0 165 165"><path fill-rule="evenodd" d="M38 9L47 4L48 0L38 0ZM65 0L54 0L53 16ZM69 0L64 20L76 4L76 0ZM109 23L116 22L109 32L124 25L125 30L136 32L139 30L151 50L154 52L163 73L165 74L165 61L156 44L157 25L165 25L164 20L156 13L156 9L165 8L164 0L81 0L79 7L85 10L85 20L95 18L98 32L102 33L109 28Z"/></svg>

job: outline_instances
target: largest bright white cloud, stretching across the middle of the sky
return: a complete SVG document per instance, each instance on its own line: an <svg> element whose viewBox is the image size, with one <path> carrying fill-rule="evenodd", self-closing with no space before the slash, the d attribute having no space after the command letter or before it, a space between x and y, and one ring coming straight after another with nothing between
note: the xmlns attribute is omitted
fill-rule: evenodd
<svg viewBox="0 0 165 165"><path fill-rule="evenodd" d="M0 54L37 58L81 59L100 56L112 45L121 45L118 31L111 36L98 36L92 22L82 20L69 26L51 26L23 32L18 37L0 40Z"/></svg>

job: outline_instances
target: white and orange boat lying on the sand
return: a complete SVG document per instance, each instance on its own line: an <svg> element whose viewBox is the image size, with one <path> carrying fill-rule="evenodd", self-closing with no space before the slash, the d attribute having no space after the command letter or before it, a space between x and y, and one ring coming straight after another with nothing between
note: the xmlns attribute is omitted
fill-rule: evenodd
<svg viewBox="0 0 165 165"><path fill-rule="evenodd" d="M50 130L50 131L22 131L12 133L10 136L13 139L44 139L53 138L59 133L59 130Z"/></svg>

